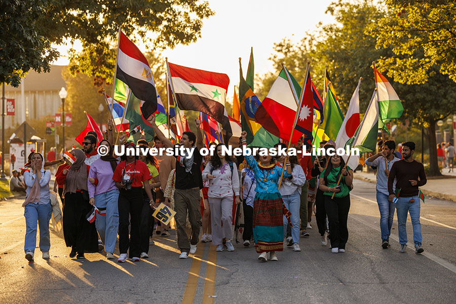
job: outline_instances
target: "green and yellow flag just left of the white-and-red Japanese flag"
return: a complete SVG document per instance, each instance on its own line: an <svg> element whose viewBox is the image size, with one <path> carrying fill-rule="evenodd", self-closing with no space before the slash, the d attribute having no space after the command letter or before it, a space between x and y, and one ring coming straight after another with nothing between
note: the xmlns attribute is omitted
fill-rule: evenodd
<svg viewBox="0 0 456 304"><path fill-rule="evenodd" d="M344 115L337 104L334 94L328 88L325 106L323 108L323 122L319 129L325 130L325 134L333 141L337 138L337 133L344 122Z"/></svg>

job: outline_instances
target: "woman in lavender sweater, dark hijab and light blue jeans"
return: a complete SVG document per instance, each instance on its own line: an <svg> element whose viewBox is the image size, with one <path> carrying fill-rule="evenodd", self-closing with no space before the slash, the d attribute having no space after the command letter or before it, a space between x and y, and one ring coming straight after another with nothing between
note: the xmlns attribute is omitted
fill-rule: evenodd
<svg viewBox="0 0 456 304"><path fill-rule="evenodd" d="M114 258L116 247L117 231L119 229L119 189L112 175L116 171L118 161L112 156L111 143L106 139L100 141L98 149L105 147L107 155L100 157L92 163L89 170L89 204L100 211L106 212L106 216L95 217L95 226L101 241L104 244L104 251L107 259Z"/></svg>

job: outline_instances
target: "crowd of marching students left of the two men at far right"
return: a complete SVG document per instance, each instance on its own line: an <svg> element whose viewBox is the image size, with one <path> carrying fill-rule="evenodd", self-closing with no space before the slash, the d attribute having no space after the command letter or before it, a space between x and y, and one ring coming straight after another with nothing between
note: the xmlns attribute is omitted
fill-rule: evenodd
<svg viewBox="0 0 456 304"><path fill-rule="evenodd" d="M149 118L157 135L155 146L174 146L154 120L154 116ZM187 131L180 139L183 147L194 148L192 155L184 151L175 157L123 156L119 160L112 156L109 136L97 146L97 138L90 132L84 137L83 149L70 151L73 161L65 160L59 166L55 189L58 187L63 204L63 233L71 258L84 258L84 253L104 248L106 258L113 259L118 235L119 262L128 256L133 261L147 258L153 243L149 239L154 227L152 213L161 202L176 211L179 258L197 251L201 226L202 242L212 242L216 251L223 251L224 246L234 251L234 211L241 202L243 245L249 247L253 240L259 260L277 260L284 237L287 247L300 251L299 238L309 236L306 229L311 227L314 202L321 244L326 245L329 232L332 252L345 251L353 173L342 158L320 157L312 162L310 156L246 156L238 166L234 158L222 154L223 143L216 145L213 156L201 155L199 124L196 120L197 135ZM245 132L240 143L246 144ZM135 146L133 142L125 144ZM146 147L147 142L140 140L138 144ZM96 153L101 147L108 151L106 156ZM43 257L49 258L52 207L50 172L43 168L43 157L31 154L28 165L25 252L32 261L37 222L40 249ZM86 217L94 207L97 215L91 222ZM169 225L157 226L161 236L169 236L169 229Z"/></svg>

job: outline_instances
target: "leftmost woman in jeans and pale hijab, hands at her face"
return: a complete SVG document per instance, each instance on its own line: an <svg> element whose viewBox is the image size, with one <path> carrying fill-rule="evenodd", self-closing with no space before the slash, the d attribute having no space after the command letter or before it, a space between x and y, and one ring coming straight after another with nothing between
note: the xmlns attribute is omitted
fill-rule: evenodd
<svg viewBox="0 0 456 304"><path fill-rule="evenodd" d="M33 253L36 247L36 226L40 226L40 250L43 258L49 258L51 240L49 236L49 220L51 219L51 195L49 181L51 171L43 169L44 159L39 153L31 158L30 171L24 173L24 182L27 185L26 198L22 207L25 208L24 216L27 226L25 232L25 258L33 262Z"/></svg>

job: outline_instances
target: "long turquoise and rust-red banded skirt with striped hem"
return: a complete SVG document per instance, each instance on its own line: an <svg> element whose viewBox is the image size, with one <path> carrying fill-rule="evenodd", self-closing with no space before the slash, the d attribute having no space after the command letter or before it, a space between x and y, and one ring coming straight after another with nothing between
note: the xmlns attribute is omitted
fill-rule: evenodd
<svg viewBox="0 0 456 304"><path fill-rule="evenodd" d="M253 238L256 252L283 251L283 216L290 212L280 193L256 193L253 201Z"/></svg>

